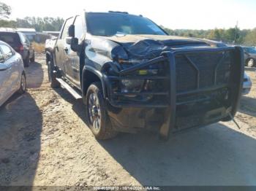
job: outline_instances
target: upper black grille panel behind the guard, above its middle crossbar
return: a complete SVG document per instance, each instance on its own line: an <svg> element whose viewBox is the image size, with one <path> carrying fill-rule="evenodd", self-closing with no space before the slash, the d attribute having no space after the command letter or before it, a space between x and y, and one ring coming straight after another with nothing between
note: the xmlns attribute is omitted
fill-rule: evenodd
<svg viewBox="0 0 256 191"><path fill-rule="evenodd" d="M227 84L231 52L204 52L176 55L177 93Z"/></svg>

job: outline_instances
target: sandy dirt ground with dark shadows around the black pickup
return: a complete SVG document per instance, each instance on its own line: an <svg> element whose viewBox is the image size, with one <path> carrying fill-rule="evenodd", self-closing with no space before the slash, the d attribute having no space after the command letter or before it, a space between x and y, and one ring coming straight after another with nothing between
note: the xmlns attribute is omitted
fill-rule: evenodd
<svg viewBox="0 0 256 191"><path fill-rule="evenodd" d="M29 90L0 108L0 185L256 185L255 84L236 120L177 134L97 141L82 101L50 88L44 55L26 69Z"/></svg>

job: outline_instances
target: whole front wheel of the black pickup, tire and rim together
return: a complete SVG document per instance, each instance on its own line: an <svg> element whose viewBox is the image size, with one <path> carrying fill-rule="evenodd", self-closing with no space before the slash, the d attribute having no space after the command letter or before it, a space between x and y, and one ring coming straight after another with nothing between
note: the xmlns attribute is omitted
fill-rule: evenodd
<svg viewBox="0 0 256 191"><path fill-rule="evenodd" d="M92 83L87 90L86 114L89 128L96 139L111 139L117 135L108 118L100 82Z"/></svg>

